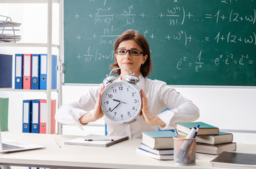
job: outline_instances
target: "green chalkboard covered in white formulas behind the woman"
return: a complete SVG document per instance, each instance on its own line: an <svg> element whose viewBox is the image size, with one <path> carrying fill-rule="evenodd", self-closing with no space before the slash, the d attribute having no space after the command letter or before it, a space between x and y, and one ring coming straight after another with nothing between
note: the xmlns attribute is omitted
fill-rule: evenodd
<svg viewBox="0 0 256 169"><path fill-rule="evenodd" d="M98 84L129 29L151 46L149 78L256 86L255 0L64 0L64 83Z"/></svg>

